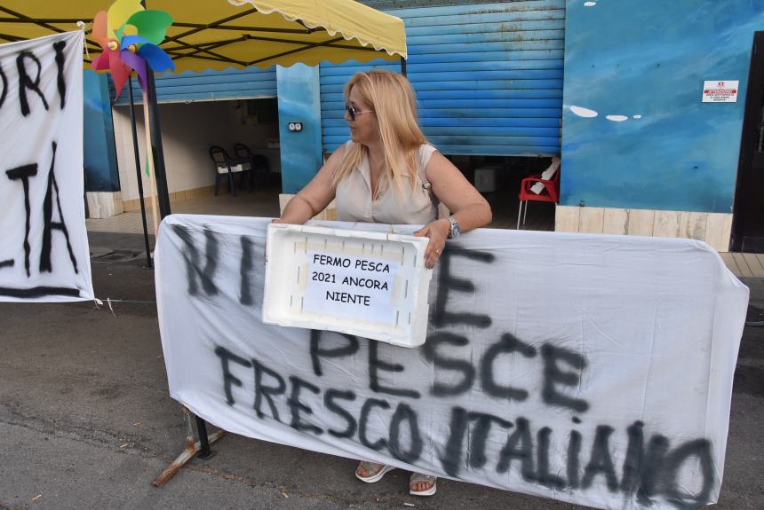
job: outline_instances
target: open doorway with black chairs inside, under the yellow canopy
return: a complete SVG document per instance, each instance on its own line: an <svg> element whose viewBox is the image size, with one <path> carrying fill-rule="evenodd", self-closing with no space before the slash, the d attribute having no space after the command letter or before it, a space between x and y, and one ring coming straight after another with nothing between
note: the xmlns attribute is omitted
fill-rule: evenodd
<svg viewBox="0 0 764 510"><path fill-rule="evenodd" d="M140 161L144 160L143 118L137 106ZM138 179L132 145L130 106L115 106L115 145L124 210L139 211ZM164 165L173 213L232 216L278 214L281 153L276 98L163 103L159 105ZM249 191L243 178L235 178L237 196L227 186L214 195L216 166L211 145L235 158L235 145L246 145L267 161L267 178ZM148 179L143 177L145 196ZM148 200L147 200L148 202ZM150 206L149 206L150 207Z"/></svg>

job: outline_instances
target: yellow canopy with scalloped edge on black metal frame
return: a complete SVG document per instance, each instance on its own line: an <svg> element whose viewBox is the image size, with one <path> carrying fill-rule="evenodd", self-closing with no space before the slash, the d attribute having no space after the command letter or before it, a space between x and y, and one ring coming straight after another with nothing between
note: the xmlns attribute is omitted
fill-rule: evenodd
<svg viewBox="0 0 764 510"><path fill-rule="evenodd" d="M3 0L0 42L90 23L113 0ZM405 59L403 21L354 0L147 0L173 24L161 44L177 71ZM90 26L88 26L90 28ZM91 57L101 49L87 38Z"/></svg>

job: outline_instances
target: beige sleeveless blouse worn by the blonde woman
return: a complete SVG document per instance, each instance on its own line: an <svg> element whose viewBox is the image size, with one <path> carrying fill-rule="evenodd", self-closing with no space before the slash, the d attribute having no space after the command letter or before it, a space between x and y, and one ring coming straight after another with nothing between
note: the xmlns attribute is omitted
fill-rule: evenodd
<svg viewBox="0 0 764 510"><path fill-rule="evenodd" d="M369 158L365 156L361 164L337 184L337 219L378 224L432 222L438 217L438 200L430 189L425 169L435 151L433 145L419 146L417 177L413 189L408 173L402 176L403 192L394 189L394 184L392 187L387 184L386 179L380 178L377 200L371 198Z"/></svg>

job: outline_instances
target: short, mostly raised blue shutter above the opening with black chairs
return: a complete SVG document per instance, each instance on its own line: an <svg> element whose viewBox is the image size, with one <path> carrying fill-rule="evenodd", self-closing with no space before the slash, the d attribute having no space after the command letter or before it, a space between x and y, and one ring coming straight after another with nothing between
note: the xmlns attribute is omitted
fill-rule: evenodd
<svg viewBox="0 0 764 510"><path fill-rule="evenodd" d="M182 103L187 101L212 101L239 98L275 98L276 68L250 67L247 69L226 69L224 71L187 71L179 75L165 73L156 75L156 100L160 103ZM110 81L112 96L114 85ZM140 89L133 80L134 98L139 102ZM126 105L127 85L117 99L117 105Z"/></svg>

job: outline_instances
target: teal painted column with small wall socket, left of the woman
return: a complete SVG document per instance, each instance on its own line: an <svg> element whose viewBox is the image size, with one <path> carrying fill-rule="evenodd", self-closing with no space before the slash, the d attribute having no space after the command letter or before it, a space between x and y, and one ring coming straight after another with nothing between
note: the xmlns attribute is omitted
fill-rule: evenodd
<svg viewBox="0 0 764 510"><path fill-rule="evenodd" d="M276 67L282 191L296 193L322 166L318 66ZM301 130L290 124L301 123Z"/></svg>

